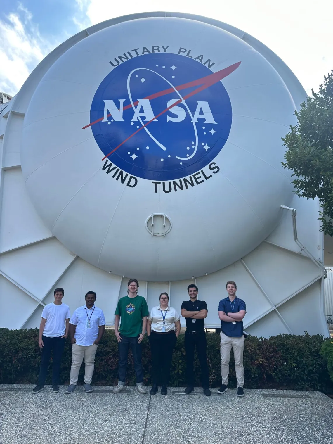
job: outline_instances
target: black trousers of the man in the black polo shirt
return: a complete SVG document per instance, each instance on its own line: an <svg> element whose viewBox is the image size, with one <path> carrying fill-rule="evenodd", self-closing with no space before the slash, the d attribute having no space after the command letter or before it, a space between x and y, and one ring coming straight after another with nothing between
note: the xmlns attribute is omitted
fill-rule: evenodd
<svg viewBox="0 0 333 444"><path fill-rule="evenodd" d="M194 386L194 349L197 348L198 358L201 367L201 384L202 387L209 387L209 371L207 365L207 341L206 333L185 332L185 351L186 351L186 377L187 385Z"/></svg>

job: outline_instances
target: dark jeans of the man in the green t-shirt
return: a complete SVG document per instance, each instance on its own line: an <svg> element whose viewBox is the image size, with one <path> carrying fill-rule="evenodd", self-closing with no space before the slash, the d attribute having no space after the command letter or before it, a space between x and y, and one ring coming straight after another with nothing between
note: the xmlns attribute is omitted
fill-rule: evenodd
<svg viewBox="0 0 333 444"><path fill-rule="evenodd" d="M128 337L123 336L120 333L122 341L118 344L119 349L119 362L118 362L118 379L119 382L125 384L126 379L126 367L127 367L127 359L128 359L128 350L131 345L133 361L134 361L134 369L136 374L136 383L143 383L143 366L141 362L142 355L142 345L138 344L139 336L136 337Z"/></svg>

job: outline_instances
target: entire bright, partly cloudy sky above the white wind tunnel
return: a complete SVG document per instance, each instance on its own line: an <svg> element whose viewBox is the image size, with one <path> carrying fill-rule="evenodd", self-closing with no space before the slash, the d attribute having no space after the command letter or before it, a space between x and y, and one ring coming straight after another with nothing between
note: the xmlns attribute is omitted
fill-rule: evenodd
<svg viewBox="0 0 333 444"><path fill-rule="evenodd" d="M0 0L0 91L15 95L38 63L93 24L135 12L212 17L266 44L307 93L333 69L332 0Z"/></svg>

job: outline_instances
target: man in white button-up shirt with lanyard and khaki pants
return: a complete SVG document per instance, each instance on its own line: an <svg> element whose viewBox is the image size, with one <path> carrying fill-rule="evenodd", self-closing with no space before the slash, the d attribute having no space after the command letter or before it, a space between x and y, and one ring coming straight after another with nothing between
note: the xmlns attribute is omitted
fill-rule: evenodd
<svg viewBox="0 0 333 444"><path fill-rule="evenodd" d="M79 379L79 371L84 357L84 390L91 393L91 379L95 368L95 354L105 329L103 311L95 306L96 293L88 291L86 304L73 313L69 321L71 337L71 377L65 393L73 393Z"/></svg>

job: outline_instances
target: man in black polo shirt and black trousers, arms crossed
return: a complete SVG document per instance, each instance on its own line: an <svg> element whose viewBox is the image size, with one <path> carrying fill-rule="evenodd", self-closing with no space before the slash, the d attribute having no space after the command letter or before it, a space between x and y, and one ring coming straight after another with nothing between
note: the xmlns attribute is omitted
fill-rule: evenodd
<svg viewBox="0 0 333 444"><path fill-rule="evenodd" d="M194 349L197 348L198 358L201 367L201 382L203 392L210 396L209 373L207 365L207 341L205 332L205 317L207 316L207 304L205 301L198 301L198 287L189 285L187 287L190 296L189 301L182 303L182 317L186 318L185 351L186 351L186 394L194 390Z"/></svg>

